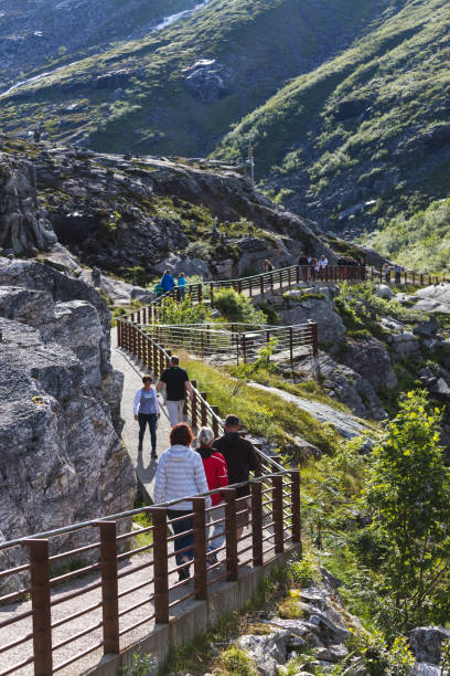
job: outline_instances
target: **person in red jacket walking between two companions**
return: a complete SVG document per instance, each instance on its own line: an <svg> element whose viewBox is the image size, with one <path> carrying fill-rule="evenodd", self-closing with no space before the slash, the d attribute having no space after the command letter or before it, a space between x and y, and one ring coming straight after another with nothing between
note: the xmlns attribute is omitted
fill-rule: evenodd
<svg viewBox="0 0 450 676"><path fill-rule="evenodd" d="M228 472L226 462L222 453L215 451L212 445L214 442L214 432L210 427L202 427L197 436L199 447L197 453L202 456L203 467L206 474L206 480L210 490L215 488L224 488L228 485ZM207 513L208 520L217 521L213 527L213 537L208 541L210 562L217 563L217 553L214 551L225 542L225 505L221 493L214 493L211 496L213 509ZM206 529L206 537L208 528Z"/></svg>

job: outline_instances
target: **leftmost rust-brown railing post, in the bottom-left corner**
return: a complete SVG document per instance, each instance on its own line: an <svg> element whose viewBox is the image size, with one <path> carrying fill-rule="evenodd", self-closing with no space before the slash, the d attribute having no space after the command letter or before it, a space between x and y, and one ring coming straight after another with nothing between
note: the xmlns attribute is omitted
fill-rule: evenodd
<svg viewBox="0 0 450 676"><path fill-rule="evenodd" d="M33 610L34 676L53 674L52 612L49 540L23 540L30 550L31 606Z"/></svg>

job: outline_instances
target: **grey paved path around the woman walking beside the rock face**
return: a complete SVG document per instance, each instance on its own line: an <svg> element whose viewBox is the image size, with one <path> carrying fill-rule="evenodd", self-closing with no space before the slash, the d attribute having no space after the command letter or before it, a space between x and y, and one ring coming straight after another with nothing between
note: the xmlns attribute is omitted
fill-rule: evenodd
<svg viewBox="0 0 450 676"><path fill-rule="evenodd" d="M122 439L132 460L139 482L150 498L153 497L153 482L157 472L157 461L151 460L150 433L147 427L143 440L143 451L138 451L139 426L135 420L132 402L136 391L142 387L141 376L148 373L147 368L133 356L117 347L117 330L111 331L111 363L124 373L124 397L121 415L125 420ZM159 397L160 403L162 397ZM170 423L165 406L161 406L161 418L158 423L157 453L160 456L169 447Z"/></svg>

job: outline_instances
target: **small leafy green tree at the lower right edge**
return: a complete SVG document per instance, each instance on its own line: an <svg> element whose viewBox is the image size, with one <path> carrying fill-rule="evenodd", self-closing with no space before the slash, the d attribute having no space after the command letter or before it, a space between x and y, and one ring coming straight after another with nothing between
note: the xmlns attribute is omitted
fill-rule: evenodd
<svg viewBox="0 0 450 676"><path fill-rule="evenodd" d="M408 392L375 450L363 492L372 529L385 541L386 591L403 622L439 621L449 582L450 476L439 447L441 412Z"/></svg>

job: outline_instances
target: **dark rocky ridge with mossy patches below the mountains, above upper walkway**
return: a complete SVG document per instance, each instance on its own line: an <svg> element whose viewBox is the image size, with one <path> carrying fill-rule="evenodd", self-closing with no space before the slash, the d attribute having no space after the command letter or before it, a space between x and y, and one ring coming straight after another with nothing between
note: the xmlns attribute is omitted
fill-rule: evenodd
<svg viewBox="0 0 450 676"><path fill-rule="evenodd" d="M165 267L223 278L260 271L266 257L276 266L304 251L335 258L303 219L279 211L234 166L6 138L0 168L0 246L51 252L72 272L83 263L143 284Z"/></svg>

